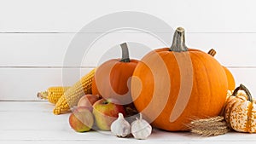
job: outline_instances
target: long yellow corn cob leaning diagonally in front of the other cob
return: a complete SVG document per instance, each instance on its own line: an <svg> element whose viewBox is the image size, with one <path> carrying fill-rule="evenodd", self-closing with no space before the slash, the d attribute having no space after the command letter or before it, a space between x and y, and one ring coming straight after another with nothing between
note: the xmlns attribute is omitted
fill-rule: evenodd
<svg viewBox="0 0 256 144"><path fill-rule="evenodd" d="M61 98L55 105L53 112L55 114L61 114L70 111L71 107L78 104L81 96L85 94L91 94L92 78L94 77L95 69L86 74L83 78L74 84L70 89L61 95Z"/></svg>

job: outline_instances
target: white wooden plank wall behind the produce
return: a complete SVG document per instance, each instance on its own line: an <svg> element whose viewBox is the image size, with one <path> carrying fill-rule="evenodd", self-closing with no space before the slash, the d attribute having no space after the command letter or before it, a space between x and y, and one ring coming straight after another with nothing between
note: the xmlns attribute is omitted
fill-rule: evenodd
<svg viewBox="0 0 256 144"><path fill-rule="evenodd" d="M104 14L124 10L152 14L173 28L183 26L189 47L216 49L216 59L230 68L237 84L256 95L255 5L253 0L0 0L0 101L38 101L38 90L61 85L63 60L76 32ZM139 38L152 49L162 46L147 33L113 32L92 45L81 73L102 57L114 56L106 56L108 49L125 38ZM131 56L140 58L137 50L131 48ZM67 84L77 80L71 74Z"/></svg>

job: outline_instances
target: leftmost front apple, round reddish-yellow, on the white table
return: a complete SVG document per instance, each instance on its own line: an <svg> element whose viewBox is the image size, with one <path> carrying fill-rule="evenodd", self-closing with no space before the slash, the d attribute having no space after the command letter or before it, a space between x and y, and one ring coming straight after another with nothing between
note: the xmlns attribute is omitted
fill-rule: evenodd
<svg viewBox="0 0 256 144"><path fill-rule="evenodd" d="M94 124L94 118L88 107L77 107L69 116L71 128L77 132L89 131Z"/></svg>

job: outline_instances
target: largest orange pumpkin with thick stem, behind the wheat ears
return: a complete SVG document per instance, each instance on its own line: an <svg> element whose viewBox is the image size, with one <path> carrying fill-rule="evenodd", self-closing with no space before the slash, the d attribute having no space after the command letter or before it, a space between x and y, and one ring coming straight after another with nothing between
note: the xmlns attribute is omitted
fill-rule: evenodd
<svg viewBox="0 0 256 144"><path fill-rule="evenodd" d="M185 45L178 27L171 48L156 49L138 63L131 79L131 97L139 112L162 130L189 130L195 118L218 116L228 82L211 55Z"/></svg>

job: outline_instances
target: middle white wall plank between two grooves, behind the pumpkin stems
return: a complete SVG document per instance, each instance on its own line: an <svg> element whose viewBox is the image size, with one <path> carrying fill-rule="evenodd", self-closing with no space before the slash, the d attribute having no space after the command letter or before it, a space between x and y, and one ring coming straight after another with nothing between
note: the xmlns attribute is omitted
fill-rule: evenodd
<svg viewBox="0 0 256 144"><path fill-rule="evenodd" d="M90 34L79 34L90 37ZM172 34L170 43L172 42ZM0 33L0 66L63 66L67 49L75 34L71 33ZM187 45L208 51L216 49L217 60L224 66L256 66L256 33L187 33ZM89 47L84 46L84 57L78 66L97 66L104 60L120 57L121 42L133 42L130 55L141 59L151 49L165 47L148 33L120 31L108 33ZM83 44L80 43L80 44ZM85 45L85 44L84 44ZM76 49L74 49L75 51ZM77 55L72 55L76 60Z"/></svg>

